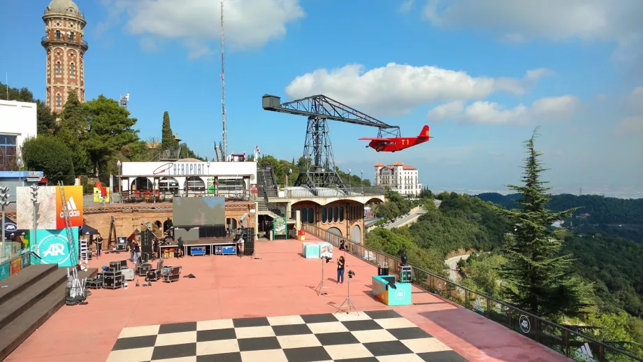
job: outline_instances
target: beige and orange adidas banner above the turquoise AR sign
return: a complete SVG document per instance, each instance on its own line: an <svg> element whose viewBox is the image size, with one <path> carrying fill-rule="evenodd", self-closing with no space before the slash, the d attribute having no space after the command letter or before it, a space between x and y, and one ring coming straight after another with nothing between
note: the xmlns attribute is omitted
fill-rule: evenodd
<svg viewBox="0 0 643 362"><path fill-rule="evenodd" d="M64 193L71 226L82 226L82 186L64 186ZM17 229L34 229L34 203L31 201L31 188L17 187L16 194ZM64 229L62 202L59 187L38 188L36 229Z"/></svg>

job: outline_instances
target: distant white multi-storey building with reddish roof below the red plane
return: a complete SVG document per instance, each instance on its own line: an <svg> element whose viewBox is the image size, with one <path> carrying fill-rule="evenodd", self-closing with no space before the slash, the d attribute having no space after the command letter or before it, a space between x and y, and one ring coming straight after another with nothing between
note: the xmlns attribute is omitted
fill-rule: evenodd
<svg viewBox="0 0 643 362"><path fill-rule="evenodd" d="M375 185L389 187L399 194L418 196L422 191L422 184L418 182L417 168L405 165L400 161L384 166L375 164Z"/></svg>

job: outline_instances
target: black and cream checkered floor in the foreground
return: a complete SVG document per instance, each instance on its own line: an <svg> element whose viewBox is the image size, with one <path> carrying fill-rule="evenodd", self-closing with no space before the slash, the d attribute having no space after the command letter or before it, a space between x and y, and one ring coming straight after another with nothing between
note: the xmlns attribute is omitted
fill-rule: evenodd
<svg viewBox="0 0 643 362"><path fill-rule="evenodd" d="M123 328L108 361L466 361L393 310Z"/></svg>

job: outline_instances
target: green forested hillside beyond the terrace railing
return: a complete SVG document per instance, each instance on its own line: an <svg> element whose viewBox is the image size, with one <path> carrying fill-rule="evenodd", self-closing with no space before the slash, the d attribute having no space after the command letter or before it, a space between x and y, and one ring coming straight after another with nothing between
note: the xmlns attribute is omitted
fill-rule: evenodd
<svg viewBox="0 0 643 362"><path fill-rule="evenodd" d="M577 296L571 299L577 298L578 303L569 308L554 299L551 303L561 310L567 308L565 313L539 309L537 314L547 313L547 319L643 356L643 244L641 234L636 232L643 223L643 200L547 196L546 189L542 192L544 200L551 198L543 205L543 210L549 213L544 219L554 215L555 219L565 221L560 228L550 226L554 219L546 225L549 240L556 240L559 245L548 260L552 265L558 256L568 260L568 266L552 266L551 273L557 275L568 268L570 283L577 287ZM402 215L412 203L423 205L426 214L410 226L368 231L366 245L392 255L406 251L410 263L444 277L448 276L445 259L471 254L468 260L458 263L458 283L511 301L512 290L507 289L512 287L508 284L513 276L506 274L507 264L519 244L513 234L521 231L520 223L516 224L507 214L524 217L521 210L526 206L514 201L524 201L521 194L434 195L425 190L422 195L421 201L407 201L399 195L387 194L386 202L374 205L376 215L383 219ZM442 201L439 208L435 208L433 198ZM563 214L556 215L558 212ZM626 224L630 226L628 231L615 231L618 230L615 225ZM528 305L514 304L529 310Z"/></svg>

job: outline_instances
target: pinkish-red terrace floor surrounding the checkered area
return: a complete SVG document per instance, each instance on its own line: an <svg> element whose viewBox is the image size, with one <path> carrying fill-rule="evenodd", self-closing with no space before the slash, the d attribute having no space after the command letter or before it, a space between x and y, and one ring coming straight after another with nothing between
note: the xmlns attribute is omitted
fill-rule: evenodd
<svg viewBox="0 0 643 362"><path fill-rule="evenodd" d="M315 240L307 235L306 240ZM335 284L336 266L324 263L326 296L317 296L319 259L304 259L297 240L257 242L261 259L238 256L192 256L168 259L181 265L179 282L152 287L93 290L88 305L64 306L18 347L6 361L106 361L124 327L242 317L271 317L335 312L347 296L347 283ZM335 249L335 258L338 257ZM91 267L127 259L129 253L103 254ZM376 268L347 254L354 270L351 298L359 310L383 310L370 295ZM155 262L154 262L155 263ZM143 280L140 280L143 284ZM419 292L419 289L414 289ZM431 294L414 294L414 303L398 313L444 342L469 361L570 361L528 338L463 307Z"/></svg>

